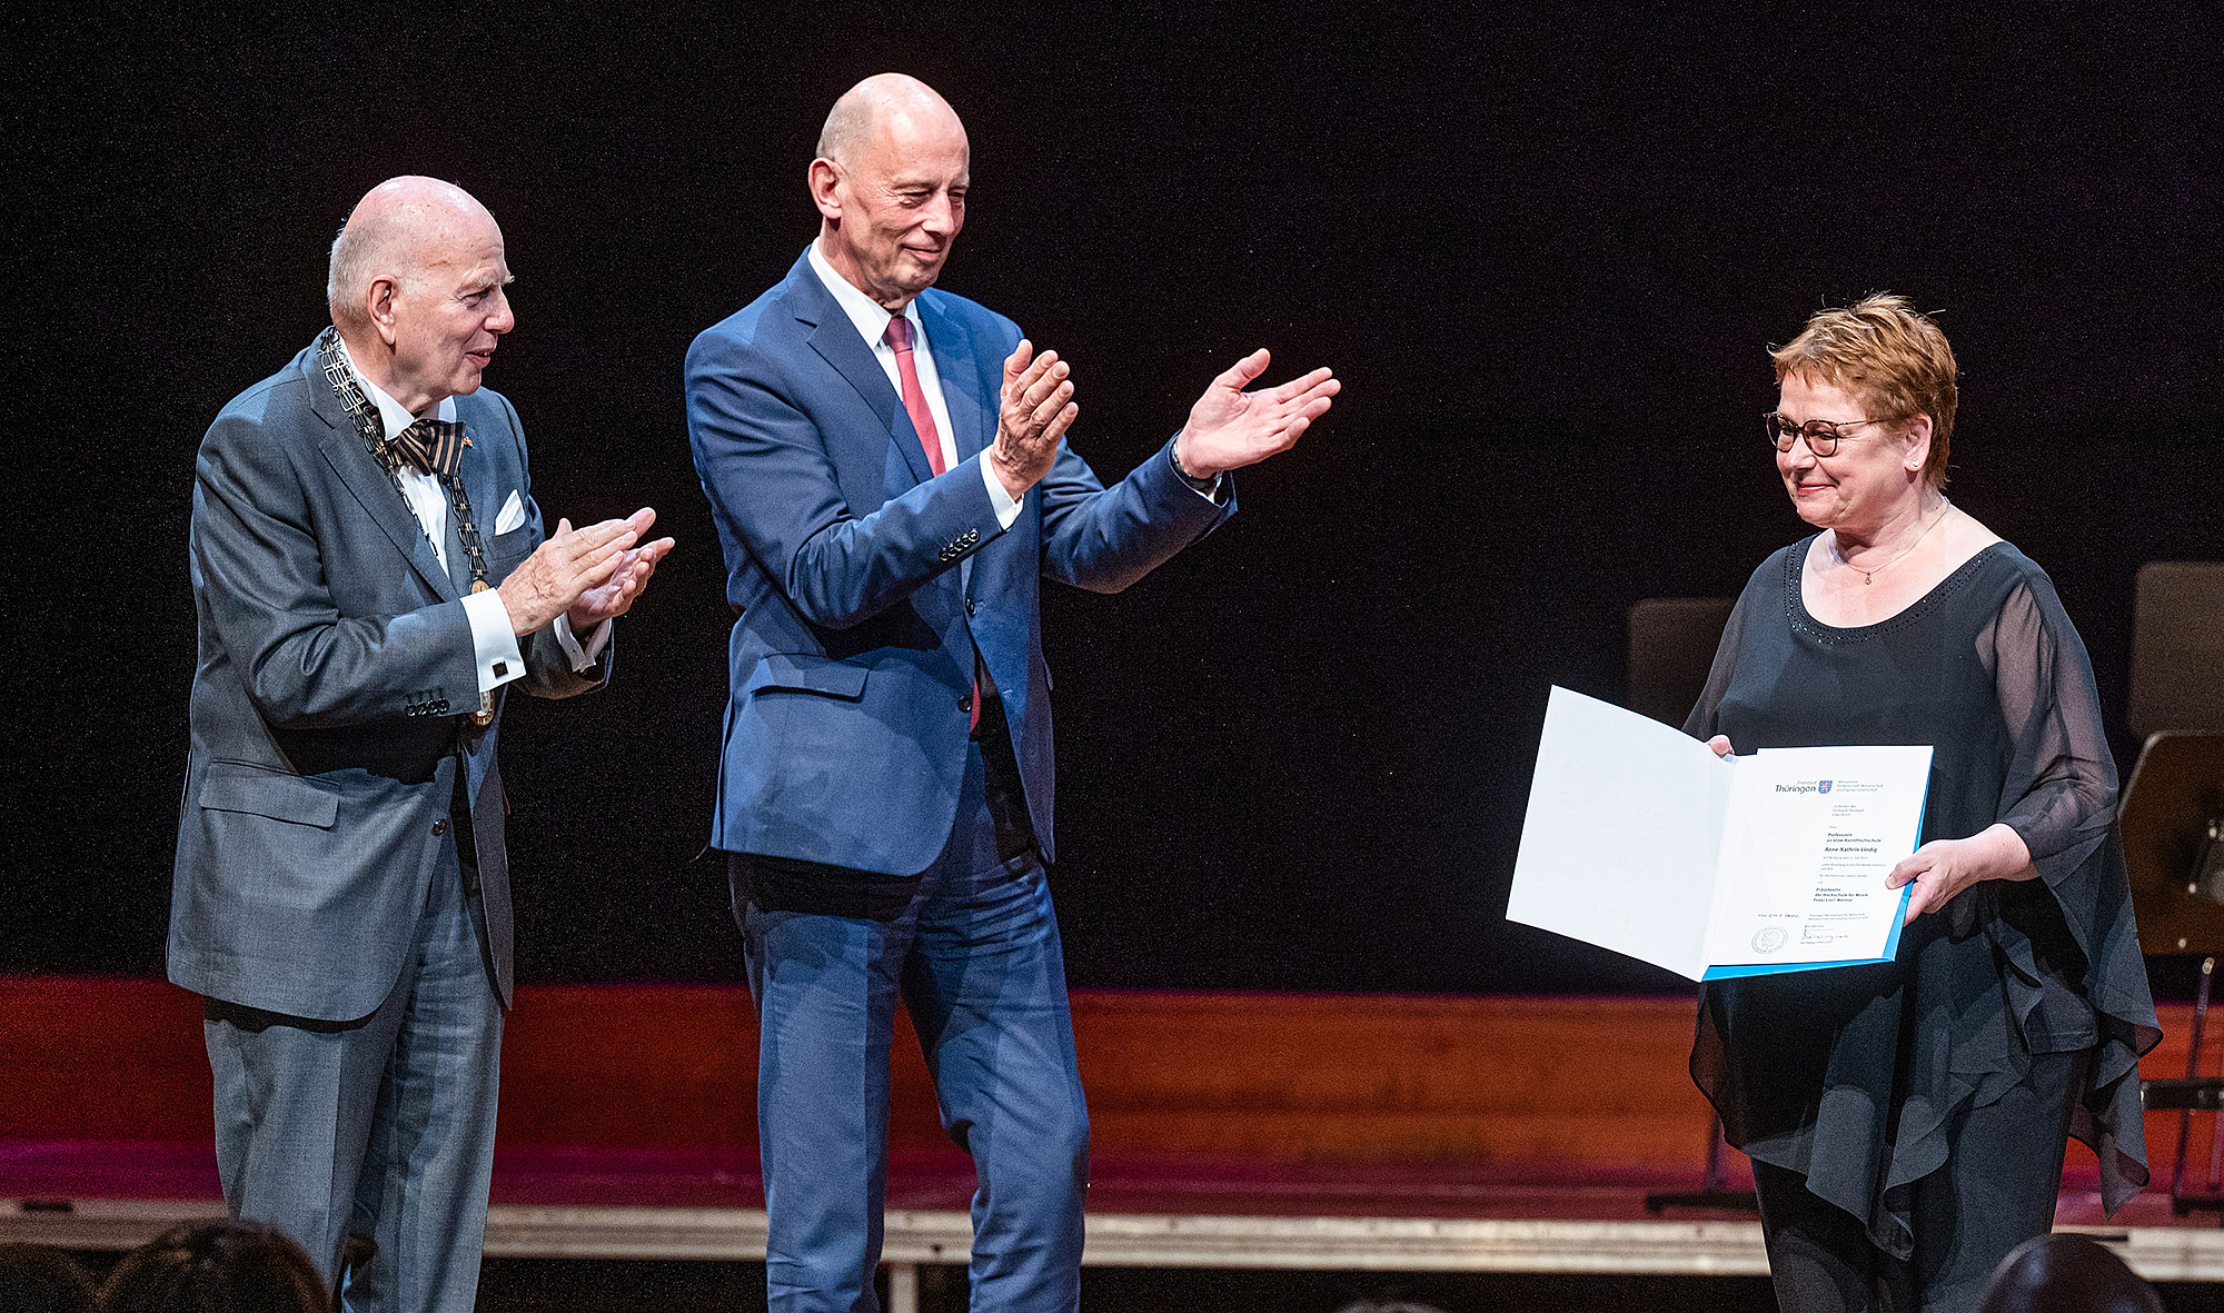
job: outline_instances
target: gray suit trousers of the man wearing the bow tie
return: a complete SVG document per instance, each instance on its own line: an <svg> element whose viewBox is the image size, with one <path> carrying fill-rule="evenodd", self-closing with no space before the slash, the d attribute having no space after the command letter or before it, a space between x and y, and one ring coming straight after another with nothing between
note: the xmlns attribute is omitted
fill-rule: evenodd
<svg viewBox="0 0 2224 1313"><path fill-rule="evenodd" d="M205 999L225 1204L298 1240L351 1313L478 1300L503 1050L480 917L447 846L403 975L369 1017Z"/></svg>

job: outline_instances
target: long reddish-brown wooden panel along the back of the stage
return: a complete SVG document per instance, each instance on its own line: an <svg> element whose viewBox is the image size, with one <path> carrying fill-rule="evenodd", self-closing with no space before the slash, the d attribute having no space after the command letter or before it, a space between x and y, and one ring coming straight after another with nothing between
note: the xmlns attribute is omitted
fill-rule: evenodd
<svg viewBox="0 0 2224 1313"><path fill-rule="evenodd" d="M2182 1075L2164 1008L2148 1075ZM1697 1175L1706 1104L1684 999L1079 993L1094 1155L1461 1162ZM896 1041L898 1153L954 1153ZM193 995L151 979L0 977L0 1139L207 1142ZM2148 1117L2157 1162L2175 1115ZM747 990L525 986L503 1055L505 1148L756 1148ZM2206 1144L2195 1146L2206 1162ZM2073 1164L2077 1153L2073 1153Z"/></svg>

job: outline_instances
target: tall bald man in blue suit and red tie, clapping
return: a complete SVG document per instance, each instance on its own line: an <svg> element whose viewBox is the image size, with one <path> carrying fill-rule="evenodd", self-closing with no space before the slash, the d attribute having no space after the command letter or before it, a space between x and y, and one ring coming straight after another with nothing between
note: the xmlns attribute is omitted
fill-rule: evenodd
<svg viewBox="0 0 2224 1313"><path fill-rule="evenodd" d="M818 240L687 352L738 612L712 843L763 1035L776 1311L872 1309L898 999L979 1171L972 1306L1079 1304L1088 1110L1043 875L1039 581L1128 588L1234 514L1228 472L1339 387L1243 392L1254 352L1105 487L1063 441L1065 361L932 287L967 171L923 82L852 87L810 167Z"/></svg>

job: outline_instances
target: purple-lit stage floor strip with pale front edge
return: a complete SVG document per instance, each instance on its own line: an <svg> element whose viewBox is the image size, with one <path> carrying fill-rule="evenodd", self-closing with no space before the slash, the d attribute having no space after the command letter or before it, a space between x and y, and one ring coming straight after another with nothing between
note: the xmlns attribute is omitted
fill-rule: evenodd
<svg viewBox="0 0 2224 1313"><path fill-rule="evenodd" d="M1735 1208L1648 1213L1657 1173L1579 1175L1475 1164L1110 1159L1092 1166L1092 1266L1595 1275L1764 1275L1759 1224ZM972 1195L959 1153L896 1155L885 1257L963 1264ZM222 1215L207 1144L4 1142L0 1240L129 1248ZM2162 1193L2099 1213L2095 1179L2064 1179L2057 1228L2115 1246L2153 1282L2224 1282L2215 1213L2175 1217ZM756 1157L732 1151L503 1151L489 1257L736 1260L765 1255Z"/></svg>

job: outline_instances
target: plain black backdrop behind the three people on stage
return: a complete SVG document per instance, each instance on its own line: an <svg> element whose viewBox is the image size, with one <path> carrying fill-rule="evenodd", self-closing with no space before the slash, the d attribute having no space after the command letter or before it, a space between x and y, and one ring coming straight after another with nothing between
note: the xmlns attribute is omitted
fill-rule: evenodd
<svg viewBox="0 0 2224 1313"><path fill-rule="evenodd" d="M416 171L505 227L545 514L681 539L607 692L509 708L520 970L741 979L681 354L810 240L818 120L881 69L965 118L943 287L1074 361L1101 474L1254 345L1346 381L1208 543L1045 599L1074 986L1679 988L1503 921L1546 688L1619 697L1632 601L1804 532L1764 347L1870 289L1953 336L1953 494L2053 572L2128 770L2133 572L2220 552L2211 7L1063 9L0 20L0 970L162 970L193 447Z"/></svg>

